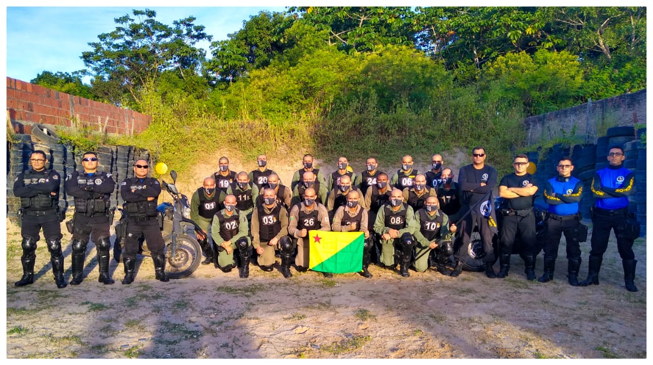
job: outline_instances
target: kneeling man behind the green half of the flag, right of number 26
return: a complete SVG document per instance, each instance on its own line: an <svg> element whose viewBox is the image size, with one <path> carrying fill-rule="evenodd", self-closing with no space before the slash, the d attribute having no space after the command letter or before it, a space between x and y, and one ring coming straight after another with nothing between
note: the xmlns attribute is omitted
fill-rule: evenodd
<svg viewBox="0 0 653 365"><path fill-rule="evenodd" d="M368 218L368 210L360 205L360 193L352 190L347 194L347 205L340 206L336 210L331 230L334 232L363 232L365 240L363 242L363 268L360 275L365 278L372 278L372 274L368 270L370 251L373 244L370 239L370 230L368 230Z"/></svg>

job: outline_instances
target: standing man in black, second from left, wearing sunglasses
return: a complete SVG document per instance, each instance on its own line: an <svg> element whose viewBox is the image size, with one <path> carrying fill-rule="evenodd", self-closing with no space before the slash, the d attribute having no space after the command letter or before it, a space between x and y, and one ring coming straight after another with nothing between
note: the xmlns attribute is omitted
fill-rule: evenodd
<svg viewBox="0 0 653 365"><path fill-rule="evenodd" d="M82 156L84 170L66 176L66 193L74 197L75 214L72 217L72 279L71 285L79 285L84 279L84 256L88 236L95 243L100 276L105 285L113 284L109 275L109 249L111 242L109 226L113 215L109 214L109 197L116 189L116 182L108 172L97 170L97 154L86 152Z"/></svg>

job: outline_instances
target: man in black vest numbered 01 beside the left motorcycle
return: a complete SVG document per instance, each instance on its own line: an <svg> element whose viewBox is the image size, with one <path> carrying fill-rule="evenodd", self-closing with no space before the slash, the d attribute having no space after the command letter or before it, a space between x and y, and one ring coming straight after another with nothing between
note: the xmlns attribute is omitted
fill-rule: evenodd
<svg viewBox="0 0 653 365"><path fill-rule="evenodd" d="M220 210L224 200L225 193L220 189L215 189L215 180L210 176L204 178L202 187L197 189L193 193L193 197L191 197L191 219L206 233L206 236L198 237L198 242L202 246L202 253L206 257L202 261L203 265L213 262L217 267L217 253L211 249L211 243L208 240L208 229L211 227L213 217Z"/></svg>

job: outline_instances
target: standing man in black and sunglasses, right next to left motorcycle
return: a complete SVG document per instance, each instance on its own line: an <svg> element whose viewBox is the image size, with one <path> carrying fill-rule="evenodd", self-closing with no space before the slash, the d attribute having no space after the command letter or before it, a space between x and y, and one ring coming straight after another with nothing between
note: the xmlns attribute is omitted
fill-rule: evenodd
<svg viewBox="0 0 653 365"><path fill-rule="evenodd" d="M136 268L138 238L145 236L148 249L154 261L155 278L169 281L165 274L165 244L157 221L157 198L161 193L161 184L155 178L148 178L150 166L148 161L139 159L134 164L134 177L127 178L120 184L120 195L125 200L127 213L127 236L125 236L125 278L122 283L133 283Z"/></svg>

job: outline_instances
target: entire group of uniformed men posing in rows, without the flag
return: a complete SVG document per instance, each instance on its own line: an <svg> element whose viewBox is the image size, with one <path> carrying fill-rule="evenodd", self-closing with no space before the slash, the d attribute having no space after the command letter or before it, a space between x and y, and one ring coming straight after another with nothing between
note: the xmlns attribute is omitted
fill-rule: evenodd
<svg viewBox="0 0 653 365"><path fill-rule="evenodd" d="M553 278L558 245L565 234L568 281L573 286L598 285L598 272L607 249L609 232L614 229L618 251L624 266L624 280L629 291L634 284L635 261L633 238L624 234L628 214L628 195L634 185L633 173L624 168L624 151L610 148L609 166L598 170L592 182L596 197L594 232L592 234L588 278L578 281L581 265L581 200L582 182L571 176L573 161L563 157L558 161L558 176L545 183L543 196L549 208L545 215L543 244L535 234L534 196L537 179L530 174L528 157L520 154L513 159L514 172L503 176L498 193L503 198L498 212L494 210L492 190L497 184L497 172L485 164L483 147L472 150L470 165L460 168L454 182L451 168L443 167L443 157L432 155L431 169L425 173L413 168L410 155L402 157L401 167L391 176L377 169L374 157L366 160L365 170L355 174L346 157L338 158L337 169L325 179L313 166L313 156L304 155L290 185L283 185L278 174L267 167L267 156L257 157L258 168L236 173L229 168L229 159L221 157L219 170L202 182L191 198L191 219L211 239L200 240L206 256L203 264L213 263L223 272L238 267L239 276L249 276L249 263L257 261L261 270L270 272L281 257L279 271L291 278L291 262L299 272L308 270L310 230L363 232L362 271L371 278L371 262L396 270L409 277L409 267L424 272L430 267L443 275L459 276L468 259L467 247L471 232L476 229L483 242L483 253L477 256L485 263L488 278L505 278L509 274L513 245L520 242L519 254L524 260L528 280L534 280L535 258L544 250L544 273L538 281ZM15 283L24 286L34 281L35 250L39 231L50 251L52 272L57 287L67 286L63 276L61 251L61 214L58 208L60 176L46 168L43 151L34 151L31 168L14 182L14 195L21 198L22 217L21 257L23 276ZM84 279L84 257L89 235L95 242L99 266L99 282L114 283L108 273L110 224L113 221L109 197L115 182L106 172L97 170L97 154L86 152L82 170L65 178L67 194L74 197L75 212L72 233L71 285ZM156 219L157 198L161 185L148 177L150 166L145 160L134 165L135 176L119 186L125 200L128 221L124 240L123 284L135 279L138 238L144 236L155 267L155 278L168 281L165 274L164 243ZM494 214L498 216L498 224ZM497 227L498 226L498 227ZM498 228L498 252L492 244ZM543 246L543 247L542 247ZM238 255L234 255L235 253ZM453 270L447 264L453 255ZM494 264L500 262L500 270ZM331 273L323 273L331 277Z"/></svg>

